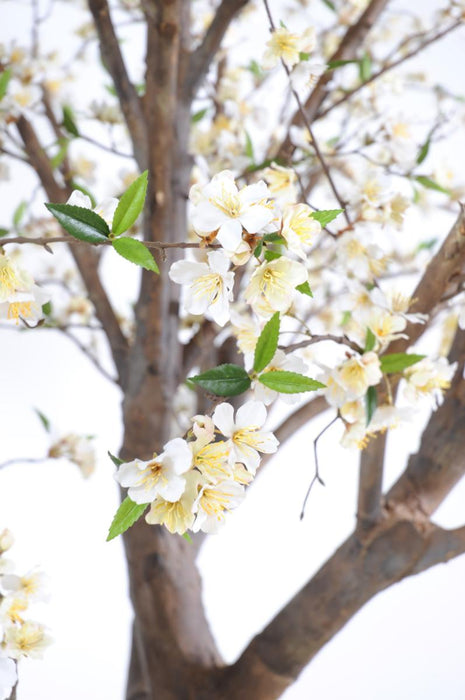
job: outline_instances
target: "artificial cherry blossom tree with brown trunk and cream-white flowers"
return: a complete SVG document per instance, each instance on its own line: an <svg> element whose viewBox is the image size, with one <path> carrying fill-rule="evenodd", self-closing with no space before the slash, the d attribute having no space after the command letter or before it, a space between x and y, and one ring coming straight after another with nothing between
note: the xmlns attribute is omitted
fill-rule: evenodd
<svg viewBox="0 0 465 700"><path fill-rule="evenodd" d="M460 183L435 161L463 103L408 72L465 8L444 0L423 19L387 0L88 0L79 50L58 61L43 40L53 7L32 0L31 40L1 49L2 173L11 162L38 185L0 232L5 334L59 329L121 390L109 539L124 537L134 606L128 700L279 697L374 595L465 551L465 526L431 520L465 471L465 221ZM88 64L106 87L91 104L71 89ZM413 93L426 118L402 115ZM408 210L439 207L450 232L406 245ZM40 264L64 246L72 262L47 280ZM117 255L140 273L125 314L101 275ZM423 400L420 449L383 493L388 431ZM226 665L202 605L202 533L300 428L315 445L310 487L321 482L324 411L325 430L340 423L360 450L356 527ZM90 442L56 436L48 457L88 475ZM7 602L18 581L0 579ZM5 697L14 661L47 641L17 600L1 603Z"/></svg>

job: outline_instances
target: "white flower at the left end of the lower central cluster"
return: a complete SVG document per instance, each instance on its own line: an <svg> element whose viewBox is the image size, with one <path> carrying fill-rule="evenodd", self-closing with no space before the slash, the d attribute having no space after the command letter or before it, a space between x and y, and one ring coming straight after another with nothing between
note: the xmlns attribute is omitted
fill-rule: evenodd
<svg viewBox="0 0 465 700"><path fill-rule="evenodd" d="M129 487L128 496L134 503L150 503L157 496L177 501L182 496L186 479L183 476L192 464L192 452L182 438L166 443L163 452L143 462L135 459L121 464L115 479Z"/></svg>

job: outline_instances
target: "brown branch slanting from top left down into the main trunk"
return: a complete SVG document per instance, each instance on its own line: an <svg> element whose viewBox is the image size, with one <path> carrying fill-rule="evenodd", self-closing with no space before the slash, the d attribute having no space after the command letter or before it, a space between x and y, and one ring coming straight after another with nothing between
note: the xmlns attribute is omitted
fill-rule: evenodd
<svg viewBox="0 0 465 700"><path fill-rule="evenodd" d="M99 37L102 61L112 77L121 111L131 136L135 159L139 168L145 170L147 167L147 132L142 105L126 70L118 37L111 21L110 8L107 0L88 0L88 4Z"/></svg>

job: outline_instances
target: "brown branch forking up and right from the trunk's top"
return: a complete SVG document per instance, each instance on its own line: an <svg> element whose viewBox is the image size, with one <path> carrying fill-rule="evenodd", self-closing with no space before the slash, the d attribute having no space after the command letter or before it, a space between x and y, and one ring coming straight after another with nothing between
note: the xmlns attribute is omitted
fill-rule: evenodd
<svg viewBox="0 0 465 700"><path fill-rule="evenodd" d="M223 37L235 15L249 0L222 0L200 46L193 51L186 74L185 90L193 96L205 77L208 67L221 46Z"/></svg>

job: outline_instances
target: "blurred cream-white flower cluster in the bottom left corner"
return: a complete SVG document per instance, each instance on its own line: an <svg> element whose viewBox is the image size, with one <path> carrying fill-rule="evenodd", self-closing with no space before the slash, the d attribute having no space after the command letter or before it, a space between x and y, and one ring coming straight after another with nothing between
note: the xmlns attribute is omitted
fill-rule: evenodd
<svg viewBox="0 0 465 700"><path fill-rule="evenodd" d="M17 681L16 664L22 658L41 658L51 638L39 622L25 618L29 606L46 599L45 577L32 571L13 573L4 557L13 544L9 530L0 532L0 699L10 696Z"/></svg>

